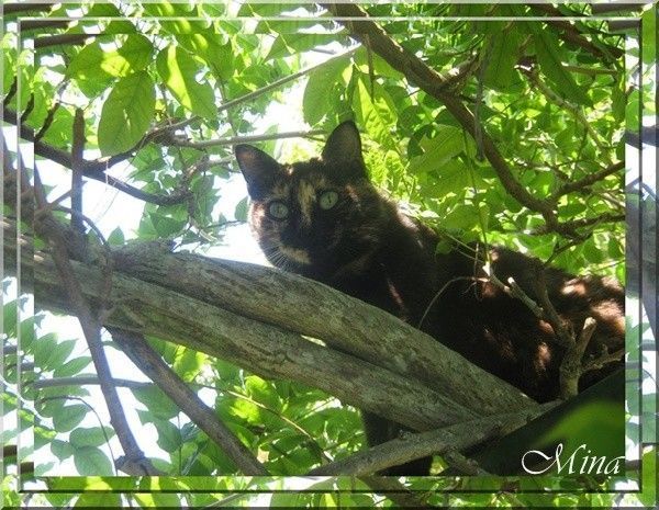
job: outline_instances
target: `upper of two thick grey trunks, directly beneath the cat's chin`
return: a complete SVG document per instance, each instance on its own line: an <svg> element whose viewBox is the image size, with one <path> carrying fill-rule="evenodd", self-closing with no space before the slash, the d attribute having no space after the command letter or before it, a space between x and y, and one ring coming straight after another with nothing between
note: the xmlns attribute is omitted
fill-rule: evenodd
<svg viewBox="0 0 659 510"><path fill-rule="evenodd" d="M323 284L269 268L154 248L143 245L123 249L116 254L116 264L126 274L171 290L186 290L191 297L245 317L321 338L337 350L420 379L468 408L500 412L504 407L520 409L528 405L528 399L512 386L502 386L496 377L454 361L456 354L435 339ZM294 297L284 299L289 295ZM413 337L416 339L410 341ZM405 354L392 355L400 351L401 343L406 345ZM459 383L453 377L456 371L461 374ZM473 385L483 383L490 388L489 395L472 390Z"/></svg>

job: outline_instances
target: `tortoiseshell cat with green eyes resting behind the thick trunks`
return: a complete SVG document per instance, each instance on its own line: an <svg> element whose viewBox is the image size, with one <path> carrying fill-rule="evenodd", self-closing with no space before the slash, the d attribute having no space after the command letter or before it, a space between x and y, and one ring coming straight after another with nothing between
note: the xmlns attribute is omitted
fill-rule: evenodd
<svg viewBox="0 0 659 510"><path fill-rule="evenodd" d="M404 216L369 182L353 122L334 129L320 159L280 165L248 145L236 146L235 155L252 199L252 229L273 265L421 327L538 401L557 398L562 350L551 327L487 281L482 254L465 248L435 253L435 233ZM513 276L536 297L535 259L492 248L490 260L501 281ZM588 316L597 321L588 353L623 345L624 291L617 283L555 269L545 271L545 280L550 301L576 331ZM601 375L583 377L582 386ZM368 412L362 417L370 445L404 430ZM383 474L425 475L431 461Z"/></svg>

